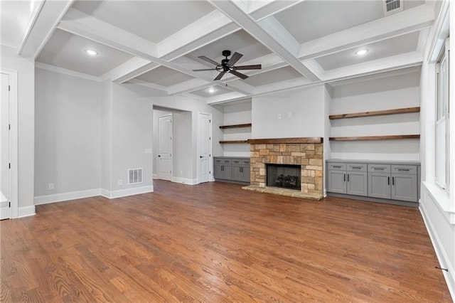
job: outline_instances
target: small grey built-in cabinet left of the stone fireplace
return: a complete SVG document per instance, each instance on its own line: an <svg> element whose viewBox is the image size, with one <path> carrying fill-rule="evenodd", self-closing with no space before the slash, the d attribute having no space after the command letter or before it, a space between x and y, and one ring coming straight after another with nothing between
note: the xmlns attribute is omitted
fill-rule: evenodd
<svg viewBox="0 0 455 303"><path fill-rule="evenodd" d="M213 157L215 181L250 184L250 158Z"/></svg>

